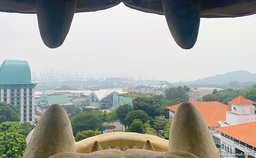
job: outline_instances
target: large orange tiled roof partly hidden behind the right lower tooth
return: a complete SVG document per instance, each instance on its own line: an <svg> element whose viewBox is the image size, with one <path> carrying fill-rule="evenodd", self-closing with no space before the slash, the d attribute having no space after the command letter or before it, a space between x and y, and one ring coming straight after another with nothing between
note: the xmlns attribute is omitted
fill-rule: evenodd
<svg viewBox="0 0 256 158"><path fill-rule="evenodd" d="M206 121L207 126L220 126L218 121L226 121L226 112L230 112L228 109L228 105L218 104L216 102L197 102L190 101L195 107L201 112ZM172 111L176 111L178 105L173 105L170 107L166 107ZM225 107L225 106L226 107ZM225 107L225 108L224 108Z"/></svg>

